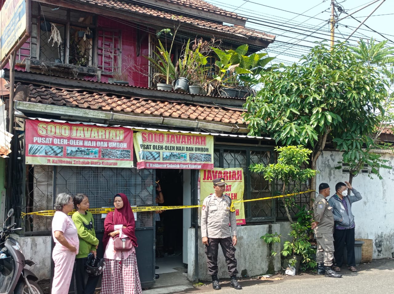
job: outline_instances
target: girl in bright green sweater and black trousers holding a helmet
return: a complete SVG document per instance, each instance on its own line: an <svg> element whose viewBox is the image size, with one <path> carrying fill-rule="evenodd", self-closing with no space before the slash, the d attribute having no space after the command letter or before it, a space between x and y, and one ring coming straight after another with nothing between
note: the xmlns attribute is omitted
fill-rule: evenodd
<svg viewBox="0 0 394 294"><path fill-rule="evenodd" d="M96 238L93 215L86 211L89 209L89 199L85 194L77 194L73 197L74 207L77 210L72 215L72 221L78 231L79 252L75 263L75 286L77 294L93 294L100 276L91 277L85 272L87 255L92 253L96 257L96 249L99 239Z"/></svg>

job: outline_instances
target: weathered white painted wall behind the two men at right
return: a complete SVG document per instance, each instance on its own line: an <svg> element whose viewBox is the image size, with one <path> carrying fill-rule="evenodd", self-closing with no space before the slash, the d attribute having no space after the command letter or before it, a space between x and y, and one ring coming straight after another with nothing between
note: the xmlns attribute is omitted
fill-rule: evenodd
<svg viewBox="0 0 394 294"><path fill-rule="evenodd" d="M389 160L387 165L393 166L394 156L384 154ZM331 195L335 194L335 184L349 180L348 173L334 169L342 153L324 151L318 159L316 186L321 182L330 185ZM353 179L352 186L362 195L362 199L354 202L351 211L355 216L355 237L372 239L374 243L373 258L392 257L394 252L394 170L380 169L383 180L377 176L372 179L367 174L360 174Z"/></svg>

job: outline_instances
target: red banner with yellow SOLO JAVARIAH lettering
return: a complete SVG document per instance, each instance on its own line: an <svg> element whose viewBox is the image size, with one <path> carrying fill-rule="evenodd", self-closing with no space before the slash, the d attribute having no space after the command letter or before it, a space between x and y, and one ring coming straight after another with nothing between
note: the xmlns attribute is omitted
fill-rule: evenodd
<svg viewBox="0 0 394 294"><path fill-rule="evenodd" d="M133 132L26 120L26 164L132 167Z"/></svg>

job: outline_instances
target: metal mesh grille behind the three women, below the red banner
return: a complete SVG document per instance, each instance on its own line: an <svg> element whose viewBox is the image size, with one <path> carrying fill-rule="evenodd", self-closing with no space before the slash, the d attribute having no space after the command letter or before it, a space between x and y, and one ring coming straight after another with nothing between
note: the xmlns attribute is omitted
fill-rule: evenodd
<svg viewBox="0 0 394 294"><path fill-rule="evenodd" d="M56 194L84 193L89 197L90 208L113 207L117 193L126 194L132 206L154 204L154 170L59 166L56 171ZM105 215L93 215L95 230L104 230ZM137 213L136 228L153 226L152 212Z"/></svg>

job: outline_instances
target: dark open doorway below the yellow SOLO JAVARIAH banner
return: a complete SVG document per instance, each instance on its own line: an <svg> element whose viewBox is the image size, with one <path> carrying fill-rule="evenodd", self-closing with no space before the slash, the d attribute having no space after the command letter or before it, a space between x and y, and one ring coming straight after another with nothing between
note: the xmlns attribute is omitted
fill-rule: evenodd
<svg viewBox="0 0 394 294"><path fill-rule="evenodd" d="M164 203L162 206L180 206L184 204L184 171L182 169L156 169L158 181ZM184 211L171 209L159 213L156 218L156 274L159 278L154 287L164 287L178 284L185 279L187 264L184 263ZM187 257L186 257L187 260Z"/></svg>

